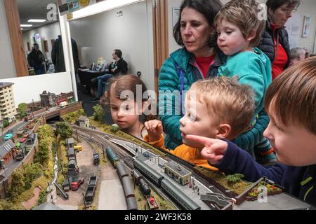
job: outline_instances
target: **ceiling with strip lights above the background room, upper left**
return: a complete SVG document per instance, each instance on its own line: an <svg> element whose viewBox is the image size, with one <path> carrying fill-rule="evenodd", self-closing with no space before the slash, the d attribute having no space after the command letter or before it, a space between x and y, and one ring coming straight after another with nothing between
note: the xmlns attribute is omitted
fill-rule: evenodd
<svg viewBox="0 0 316 224"><path fill-rule="evenodd" d="M47 6L49 3L56 3L56 0L16 0L20 15L20 24L32 24L32 27L23 27L23 31L41 27L48 23L55 21L46 22L27 22L30 19L44 19L47 20Z"/></svg>

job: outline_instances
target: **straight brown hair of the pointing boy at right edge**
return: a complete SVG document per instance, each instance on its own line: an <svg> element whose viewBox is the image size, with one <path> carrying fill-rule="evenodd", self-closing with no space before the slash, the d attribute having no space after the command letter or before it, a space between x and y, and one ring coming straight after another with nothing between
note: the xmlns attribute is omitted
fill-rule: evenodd
<svg viewBox="0 0 316 224"><path fill-rule="evenodd" d="M265 95L265 109L284 125L294 123L316 134L316 57L296 62L273 80Z"/></svg>

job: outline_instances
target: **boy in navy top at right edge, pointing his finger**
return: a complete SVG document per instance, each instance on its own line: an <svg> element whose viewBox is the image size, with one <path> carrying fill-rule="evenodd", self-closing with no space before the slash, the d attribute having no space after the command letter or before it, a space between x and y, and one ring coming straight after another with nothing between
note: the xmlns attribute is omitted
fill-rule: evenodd
<svg viewBox="0 0 316 224"><path fill-rule="evenodd" d="M230 141L187 136L205 146L201 155L225 174L244 174L246 181L262 176L310 204L316 204L316 57L297 62L268 87L265 130L279 163L263 167ZM202 134L199 134L202 136Z"/></svg>

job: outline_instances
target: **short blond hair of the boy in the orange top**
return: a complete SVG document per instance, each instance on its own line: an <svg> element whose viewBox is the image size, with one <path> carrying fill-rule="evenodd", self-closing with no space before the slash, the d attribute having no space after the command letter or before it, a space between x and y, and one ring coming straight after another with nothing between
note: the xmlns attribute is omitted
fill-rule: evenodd
<svg viewBox="0 0 316 224"><path fill-rule="evenodd" d="M254 91L249 85L238 83L237 76L199 80L190 87L188 97L191 93L207 106L209 115L214 116L218 123L232 127L228 139L234 139L249 129L255 109Z"/></svg>

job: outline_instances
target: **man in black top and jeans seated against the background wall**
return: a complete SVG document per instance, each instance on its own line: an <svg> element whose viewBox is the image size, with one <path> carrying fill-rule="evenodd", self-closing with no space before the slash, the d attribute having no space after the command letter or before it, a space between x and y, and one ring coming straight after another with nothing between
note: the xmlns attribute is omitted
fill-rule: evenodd
<svg viewBox="0 0 316 224"><path fill-rule="evenodd" d="M122 58L121 50L114 50L112 56L114 62L112 62L109 66L109 73L104 74L103 76L99 76L98 78L91 79L91 83L95 83L96 81L98 81L98 92L96 94L96 97L93 97L93 99L91 99L91 102L100 101L100 97L103 96L104 92L103 83L106 83L109 78L112 78L112 76L124 75L127 73L127 62L124 61L124 59Z"/></svg>

